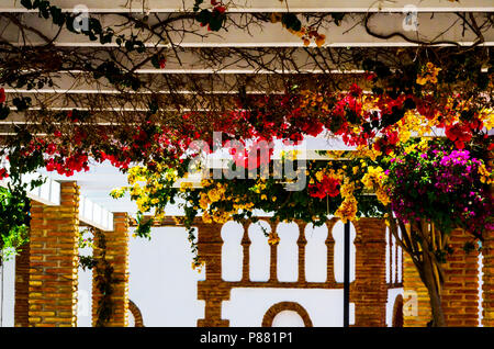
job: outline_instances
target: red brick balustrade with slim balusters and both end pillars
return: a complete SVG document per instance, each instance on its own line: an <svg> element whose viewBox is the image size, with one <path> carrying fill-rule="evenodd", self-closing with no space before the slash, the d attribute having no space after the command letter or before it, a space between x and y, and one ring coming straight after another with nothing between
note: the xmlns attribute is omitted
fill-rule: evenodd
<svg viewBox="0 0 494 349"><path fill-rule="evenodd" d="M300 222L299 222L300 223ZM328 282L325 286L341 288L341 284L334 283L333 256L334 240L332 228L336 219L328 222L329 236L326 240L328 246ZM271 223L270 223L271 224ZM361 218L355 223L357 237L355 240L357 249L356 258L356 281L350 286L350 302L356 304L356 326L385 326L385 308L388 290L385 284L385 224L381 219ZM199 254L205 260L206 280L199 281L199 300L205 301L204 319L198 320L198 326L228 326L228 320L221 318L222 302L229 300L232 289L231 282L222 280L222 239L220 224L197 224L199 228ZM271 229L276 226L271 224ZM244 225L244 271L243 280L235 283L235 286L252 286L248 278L248 246L247 236L248 224ZM300 234L304 234L305 224L300 224ZM294 286L311 288L317 286L315 283L307 283L304 277L304 246L305 238L299 238L299 281ZM266 286L279 286L277 279L277 246L271 246L270 281ZM321 286L321 285L319 285Z"/></svg>

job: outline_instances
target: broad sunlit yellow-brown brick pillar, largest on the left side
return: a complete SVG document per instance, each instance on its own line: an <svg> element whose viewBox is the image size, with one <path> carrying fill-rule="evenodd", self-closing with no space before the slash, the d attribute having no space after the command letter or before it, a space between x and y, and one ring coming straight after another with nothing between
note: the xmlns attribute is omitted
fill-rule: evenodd
<svg viewBox="0 0 494 349"><path fill-rule="evenodd" d="M60 205L31 203L29 325L75 327L79 188L64 182Z"/></svg>

